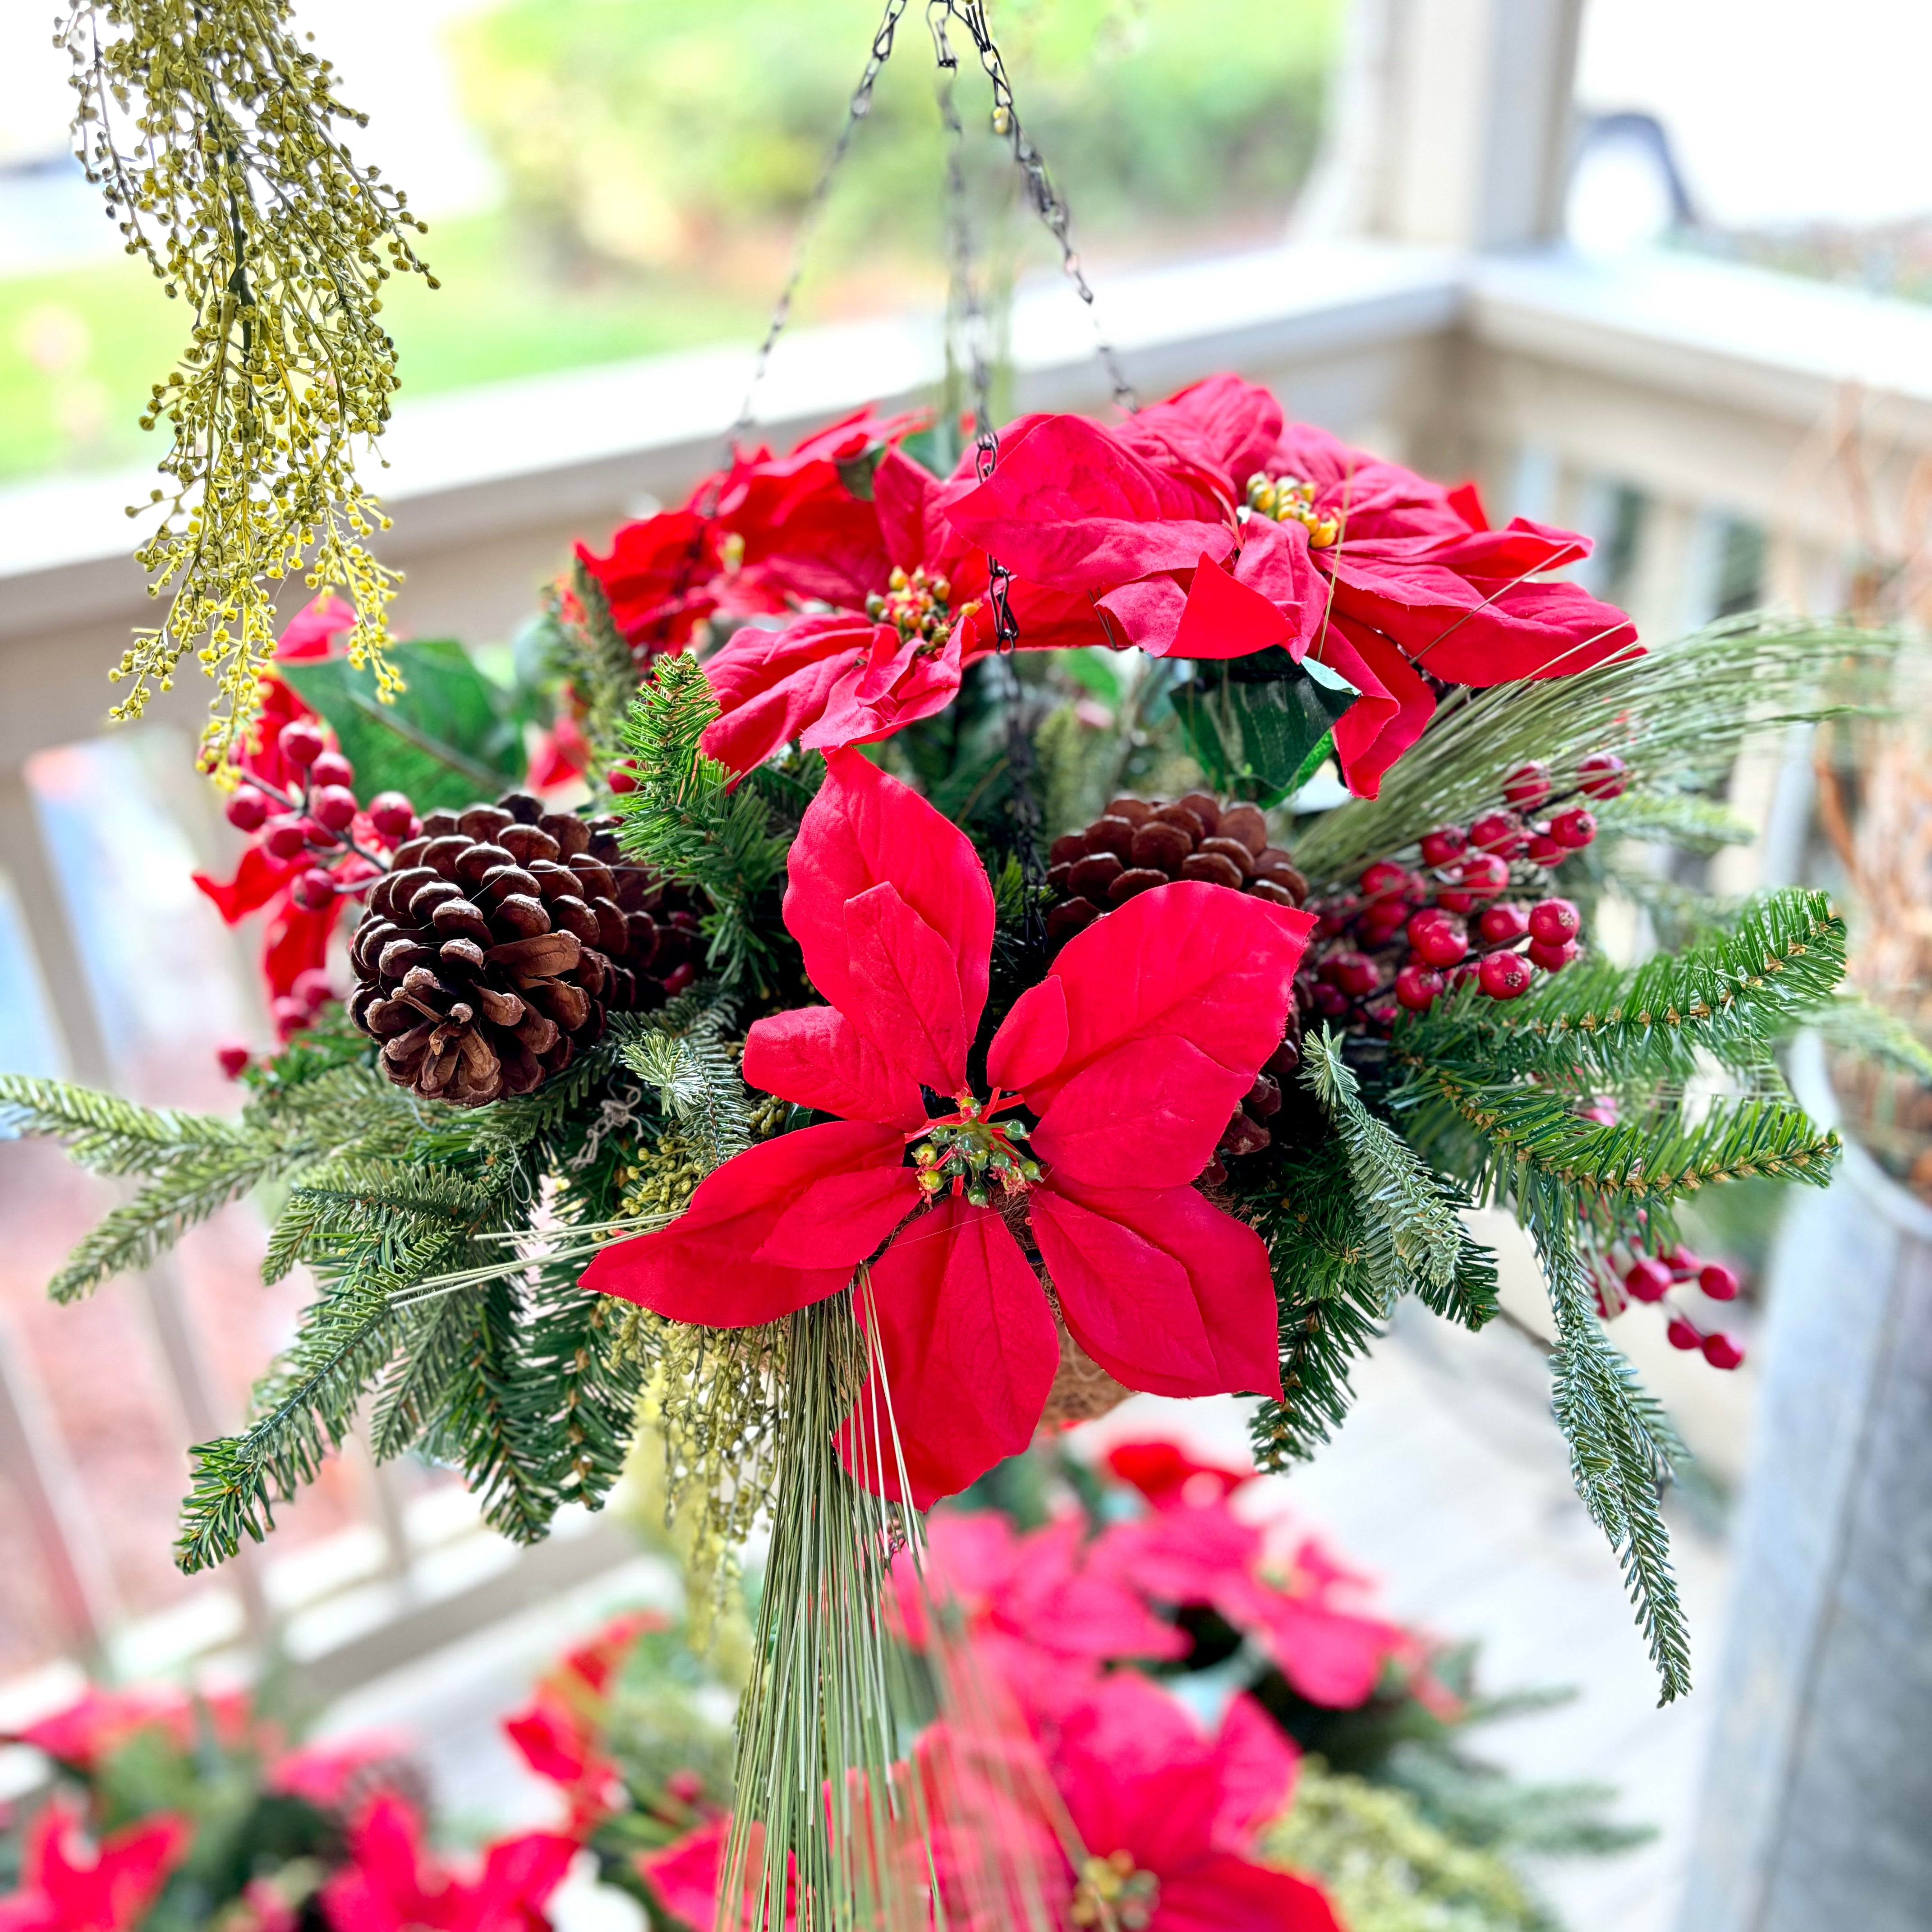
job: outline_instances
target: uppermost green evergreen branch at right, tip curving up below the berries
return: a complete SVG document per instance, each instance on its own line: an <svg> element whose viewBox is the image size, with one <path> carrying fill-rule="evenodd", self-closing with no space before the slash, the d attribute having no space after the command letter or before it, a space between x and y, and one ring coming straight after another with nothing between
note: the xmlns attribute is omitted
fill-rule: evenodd
<svg viewBox="0 0 1932 1932"><path fill-rule="evenodd" d="M1573 1072L1629 1082L1694 1066L1762 1063L1845 974L1845 922L1824 893L1772 893L1729 933L1636 968L1578 962L1517 1001L1464 991L1406 1022L1408 1065L1480 1068L1484 1080Z"/></svg>

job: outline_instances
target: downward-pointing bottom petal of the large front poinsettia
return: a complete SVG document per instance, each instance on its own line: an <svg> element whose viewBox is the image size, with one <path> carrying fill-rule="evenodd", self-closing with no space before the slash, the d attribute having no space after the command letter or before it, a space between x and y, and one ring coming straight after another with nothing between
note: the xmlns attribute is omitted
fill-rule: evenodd
<svg viewBox="0 0 1932 1932"><path fill-rule="evenodd" d="M1059 1370L1059 1335L1039 1281L991 1208L956 1194L935 1202L873 1264L871 1306L860 1298L860 1308L885 1387L867 1376L838 1445L869 1488L900 1493L887 1416L920 1509L1034 1439Z"/></svg>

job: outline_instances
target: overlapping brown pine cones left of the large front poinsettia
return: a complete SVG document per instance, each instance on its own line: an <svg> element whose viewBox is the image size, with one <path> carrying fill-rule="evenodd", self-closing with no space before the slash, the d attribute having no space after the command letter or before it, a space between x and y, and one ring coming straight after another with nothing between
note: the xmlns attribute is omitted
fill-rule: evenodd
<svg viewBox="0 0 1932 1932"><path fill-rule="evenodd" d="M614 827L510 792L431 811L396 848L350 943L350 1018L383 1041L390 1080L458 1107L529 1094L603 1034L607 1009L690 985L697 916L622 860Z"/></svg>

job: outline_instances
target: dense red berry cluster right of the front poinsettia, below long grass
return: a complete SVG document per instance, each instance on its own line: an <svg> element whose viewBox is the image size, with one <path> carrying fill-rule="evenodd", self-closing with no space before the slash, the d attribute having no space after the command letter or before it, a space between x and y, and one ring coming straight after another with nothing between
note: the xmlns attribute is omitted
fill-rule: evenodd
<svg viewBox="0 0 1932 1932"><path fill-rule="evenodd" d="M1615 798L1625 786L1613 752L1586 757L1577 792ZM1422 838L1420 867L1378 860L1354 893L1316 900L1314 947L1296 980L1304 1014L1345 1030L1385 1034L1405 1007L1428 1012L1453 985L1520 999L1540 972L1561 972L1578 951L1582 920L1567 898L1524 904L1551 866L1596 838L1596 815L1575 804L1544 819L1549 769L1522 765L1503 781L1503 804L1468 825Z"/></svg>

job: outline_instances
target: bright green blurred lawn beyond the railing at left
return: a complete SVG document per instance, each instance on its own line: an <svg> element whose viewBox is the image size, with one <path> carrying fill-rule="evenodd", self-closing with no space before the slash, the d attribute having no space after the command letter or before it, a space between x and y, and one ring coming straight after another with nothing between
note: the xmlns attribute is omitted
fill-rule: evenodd
<svg viewBox="0 0 1932 1932"><path fill-rule="evenodd" d="M383 309L404 400L752 340L763 323L755 301L690 278L562 290L495 214L433 224L423 253L442 288L394 282ZM0 481L158 458L137 419L185 330L187 311L135 261L0 280Z"/></svg>

